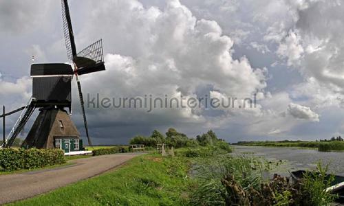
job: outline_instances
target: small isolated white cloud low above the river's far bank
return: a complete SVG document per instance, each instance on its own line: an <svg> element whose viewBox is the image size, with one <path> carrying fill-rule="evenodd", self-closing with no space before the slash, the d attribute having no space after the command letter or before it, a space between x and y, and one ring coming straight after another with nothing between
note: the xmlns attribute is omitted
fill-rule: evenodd
<svg viewBox="0 0 344 206"><path fill-rule="evenodd" d="M288 114L297 119L306 119L313 122L319 122L319 115L314 113L309 107L301 106L299 104L290 103L288 105Z"/></svg>

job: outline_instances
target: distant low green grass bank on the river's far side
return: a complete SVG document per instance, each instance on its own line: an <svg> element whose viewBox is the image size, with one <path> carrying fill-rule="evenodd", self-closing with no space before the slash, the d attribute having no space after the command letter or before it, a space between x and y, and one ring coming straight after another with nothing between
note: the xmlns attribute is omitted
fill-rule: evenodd
<svg viewBox="0 0 344 206"><path fill-rule="evenodd" d="M321 152L344 150L344 141L241 141L241 146L317 148Z"/></svg>

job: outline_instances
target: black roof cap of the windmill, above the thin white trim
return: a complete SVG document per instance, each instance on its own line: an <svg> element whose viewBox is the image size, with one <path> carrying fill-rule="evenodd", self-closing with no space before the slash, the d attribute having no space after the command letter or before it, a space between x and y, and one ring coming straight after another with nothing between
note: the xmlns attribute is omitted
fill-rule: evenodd
<svg viewBox="0 0 344 206"><path fill-rule="evenodd" d="M71 65L67 64L33 64L30 76L73 76Z"/></svg>

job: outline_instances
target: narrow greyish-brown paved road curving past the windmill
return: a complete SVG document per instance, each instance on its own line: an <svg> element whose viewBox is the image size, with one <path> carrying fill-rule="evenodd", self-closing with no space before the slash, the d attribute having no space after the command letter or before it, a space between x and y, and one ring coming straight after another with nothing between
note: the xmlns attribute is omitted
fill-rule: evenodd
<svg viewBox="0 0 344 206"><path fill-rule="evenodd" d="M96 176L140 155L116 154L75 159L73 165L20 174L0 175L0 205L50 192L58 187Z"/></svg>

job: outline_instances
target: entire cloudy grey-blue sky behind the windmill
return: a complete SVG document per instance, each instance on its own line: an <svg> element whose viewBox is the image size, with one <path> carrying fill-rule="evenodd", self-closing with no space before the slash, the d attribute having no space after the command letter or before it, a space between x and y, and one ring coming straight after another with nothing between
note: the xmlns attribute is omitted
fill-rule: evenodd
<svg viewBox="0 0 344 206"><path fill-rule="evenodd" d="M344 132L342 1L74 0L69 10L78 51L103 39L107 70L80 76L86 103L97 95L199 103L150 112L89 104L94 144L126 144L170 127L189 137L212 129L229 142ZM0 104L7 111L30 99L32 56L68 62L62 27L59 1L0 1ZM72 87L72 119L85 137L75 80ZM205 106L202 97L236 98L236 106ZM255 106L241 106L254 97ZM7 132L18 116L6 119Z"/></svg>

